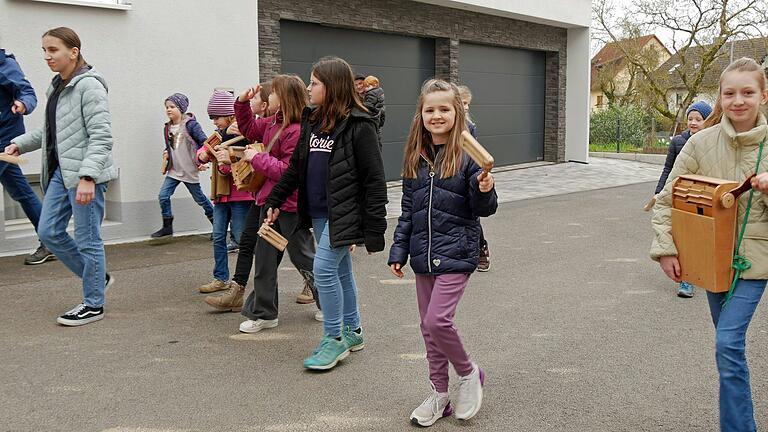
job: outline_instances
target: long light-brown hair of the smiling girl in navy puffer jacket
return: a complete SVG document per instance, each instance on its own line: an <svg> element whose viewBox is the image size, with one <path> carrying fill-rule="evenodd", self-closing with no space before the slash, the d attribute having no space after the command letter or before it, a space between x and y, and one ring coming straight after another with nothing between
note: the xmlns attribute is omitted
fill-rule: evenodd
<svg viewBox="0 0 768 432"><path fill-rule="evenodd" d="M456 110L456 118L453 123L453 129L451 129L451 133L448 136L448 142L444 144L439 165L438 161L435 161L436 165L438 165L436 169L440 171L442 178L448 178L456 175L461 168L463 158L461 132L467 128L467 117L464 112L464 104L461 103L459 89L456 87L456 84L439 79L430 79L421 86L416 114L413 115L411 131L405 144L405 156L403 158L403 177L405 178L416 178L419 172L422 153L426 152L427 148L434 144L432 142L432 134L424 127L424 118L421 115L421 110L424 108L424 98L428 94L441 91L452 93L453 98L451 102L453 103L454 110Z"/></svg>

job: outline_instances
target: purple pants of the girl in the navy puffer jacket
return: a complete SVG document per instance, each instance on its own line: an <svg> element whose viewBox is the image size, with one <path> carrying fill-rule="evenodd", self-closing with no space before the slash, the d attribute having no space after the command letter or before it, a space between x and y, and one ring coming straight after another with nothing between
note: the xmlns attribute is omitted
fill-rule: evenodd
<svg viewBox="0 0 768 432"><path fill-rule="evenodd" d="M469 282L469 274L416 275L421 334L427 347L429 379L440 393L448 391L448 362L459 376L472 373L472 362L453 326L456 306Z"/></svg>

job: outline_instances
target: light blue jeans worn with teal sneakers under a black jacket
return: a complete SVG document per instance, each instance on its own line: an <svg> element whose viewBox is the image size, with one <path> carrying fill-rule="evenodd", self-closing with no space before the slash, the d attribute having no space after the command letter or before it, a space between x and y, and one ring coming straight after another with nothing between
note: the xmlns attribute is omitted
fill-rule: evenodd
<svg viewBox="0 0 768 432"><path fill-rule="evenodd" d="M340 337L342 326L360 327L357 308L357 285L352 274L352 256L348 246L331 247L328 219L312 219L317 240L315 252L315 287L325 319L323 330L331 337Z"/></svg>

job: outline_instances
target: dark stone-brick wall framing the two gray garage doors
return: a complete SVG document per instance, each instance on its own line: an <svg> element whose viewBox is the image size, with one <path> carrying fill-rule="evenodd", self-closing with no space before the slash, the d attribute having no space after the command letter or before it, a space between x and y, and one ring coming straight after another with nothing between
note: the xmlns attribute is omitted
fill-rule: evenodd
<svg viewBox="0 0 768 432"><path fill-rule="evenodd" d="M565 159L567 30L410 0L259 0L259 73L280 72L280 20L435 38L435 75L458 81L459 43L546 52L544 159Z"/></svg>

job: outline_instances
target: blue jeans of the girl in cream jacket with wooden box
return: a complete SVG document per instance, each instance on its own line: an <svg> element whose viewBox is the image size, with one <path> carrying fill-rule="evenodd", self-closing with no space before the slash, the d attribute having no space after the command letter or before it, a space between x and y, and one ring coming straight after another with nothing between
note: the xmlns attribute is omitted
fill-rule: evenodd
<svg viewBox="0 0 768 432"><path fill-rule="evenodd" d="M715 324L715 358L720 373L720 430L757 430L749 387L746 336L765 280L740 279L731 301L721 308L725 293L707 292L712 322Z"/></svg>

